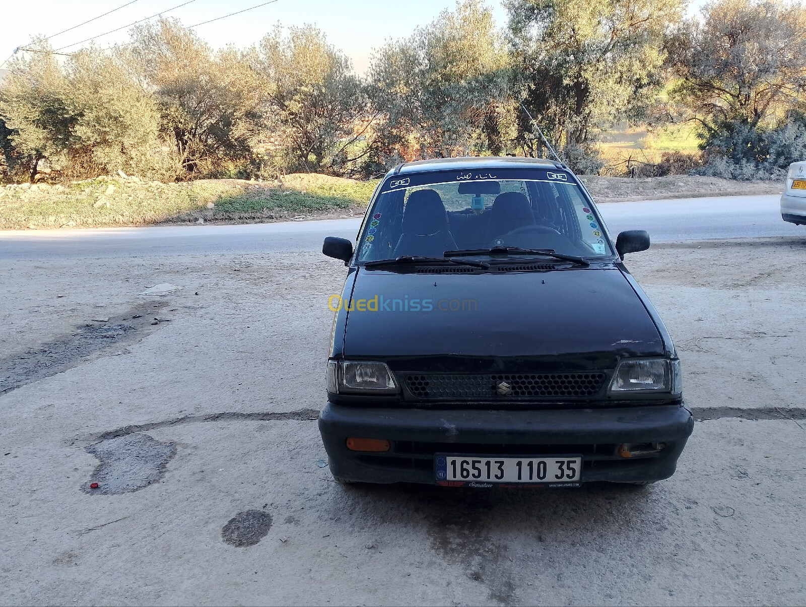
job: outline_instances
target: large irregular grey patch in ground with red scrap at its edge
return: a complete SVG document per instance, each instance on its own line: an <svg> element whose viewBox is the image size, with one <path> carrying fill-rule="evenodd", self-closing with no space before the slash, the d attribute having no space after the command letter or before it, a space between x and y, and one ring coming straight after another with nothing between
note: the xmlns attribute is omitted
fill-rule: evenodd
<svg viewBox="0 0 806 607"><path fill-rule="evenodd" d="M131 493L156 483L165 474L168 461L177 455L173 443L160 443L148 434L127 434L85 447L101 460L81 491L90 494ZM93 484L98 486L93 489Z"/></svg>

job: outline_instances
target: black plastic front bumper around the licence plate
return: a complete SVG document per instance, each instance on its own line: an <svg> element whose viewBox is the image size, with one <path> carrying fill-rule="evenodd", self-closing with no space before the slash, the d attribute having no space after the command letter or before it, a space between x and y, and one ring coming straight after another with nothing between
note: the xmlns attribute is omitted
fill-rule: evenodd
<svg viewBox="0 0 806 607"><path fill-rule="evenodd" d="M364 408L328 402L319 417L330 472L368 483L436 484L435 453L468 455L581 454L582 482L662 480L694 429L683 405L575 410L422 410ZM385 453L347 449L348 437L386 439ZM665 443L624 458L621 443Z"/></svg>

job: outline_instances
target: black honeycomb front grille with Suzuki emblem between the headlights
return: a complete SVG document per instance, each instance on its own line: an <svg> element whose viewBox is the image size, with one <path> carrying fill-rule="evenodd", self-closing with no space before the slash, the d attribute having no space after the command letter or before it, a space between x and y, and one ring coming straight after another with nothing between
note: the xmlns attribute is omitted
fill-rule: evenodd
<svg viewBox="0 0 806 607"><path fill-rule="evenodd" d="M592 397L604 383L600 372L405 376L406 388L418 398Z"/></svg>

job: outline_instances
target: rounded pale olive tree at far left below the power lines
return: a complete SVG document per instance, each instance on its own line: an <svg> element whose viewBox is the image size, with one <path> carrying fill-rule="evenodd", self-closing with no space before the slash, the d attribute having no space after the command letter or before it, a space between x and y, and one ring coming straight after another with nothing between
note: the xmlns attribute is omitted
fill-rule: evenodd
<svg viewBox="0 0 806 607"><path fill-rule="evenodd" d="M159 114L125 60L85 48L59 64L46 43L17 58L0 89L0 117L31 179L41 160L65 177L147 172L159 149Z"/></svg>

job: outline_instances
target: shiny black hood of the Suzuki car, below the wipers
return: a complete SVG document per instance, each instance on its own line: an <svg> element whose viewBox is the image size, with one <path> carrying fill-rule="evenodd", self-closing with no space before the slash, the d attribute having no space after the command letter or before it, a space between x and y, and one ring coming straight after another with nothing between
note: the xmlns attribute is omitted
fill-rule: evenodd
<svg viewBox="0 0 806 607"><path fill-rule="evenodd" d="M602 369L625 356L664 355L642 299L612 266L435 274L359 268L351 301L344 356L384 360L398 371Z"/></svg>

